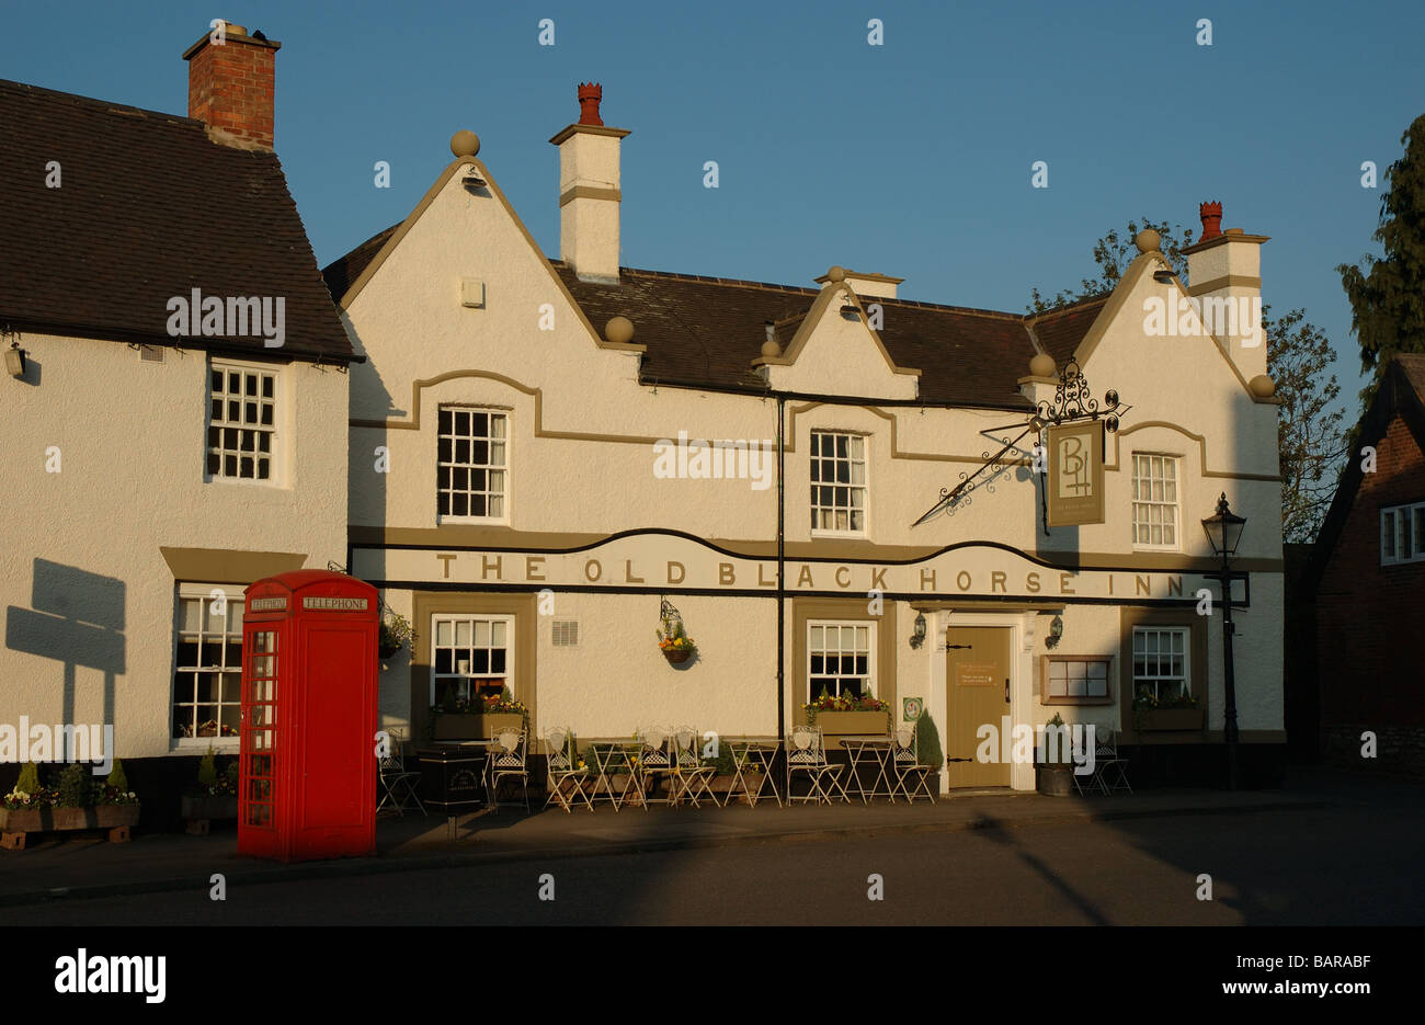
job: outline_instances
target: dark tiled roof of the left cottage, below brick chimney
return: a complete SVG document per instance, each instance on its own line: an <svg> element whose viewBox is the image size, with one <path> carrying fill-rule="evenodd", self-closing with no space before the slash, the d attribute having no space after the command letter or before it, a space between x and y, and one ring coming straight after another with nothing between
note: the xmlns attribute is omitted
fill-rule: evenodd
<svg viewBox="0 0 1425 1025"><path fill-rule="evenodd" d="M0 153L0 324L161 344L168 299L197 288L282 297L285 339L192 345L352 358L274 154L214 143L192 118L4 80Z"/></svg>

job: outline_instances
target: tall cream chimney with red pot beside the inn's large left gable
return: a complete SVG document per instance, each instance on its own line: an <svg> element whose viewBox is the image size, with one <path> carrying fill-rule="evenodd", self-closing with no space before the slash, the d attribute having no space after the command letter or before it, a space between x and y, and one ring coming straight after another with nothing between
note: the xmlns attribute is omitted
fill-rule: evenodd
<svg viewBox="0 0 1425 1025"><path fill-rule="evenodd" d="M618 282L618 150L628 134L598 115L604 90L579 84L579 123L559 147L559 258L583 281Z"/></svg>

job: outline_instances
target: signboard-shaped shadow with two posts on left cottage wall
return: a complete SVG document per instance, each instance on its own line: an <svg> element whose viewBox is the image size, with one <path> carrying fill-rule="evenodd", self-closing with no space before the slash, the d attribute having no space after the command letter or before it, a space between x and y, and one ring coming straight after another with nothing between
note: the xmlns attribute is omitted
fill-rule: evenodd
<svg viewBox="0 0 1425 1025"><path fill-rule="evenodd" d="M6 609L7 649L64 666L63 723L74 721L77 666L104 673L103 721L114 721L114 677L125 671L125 597L123 580L36 559L31 607Z"/></svg>

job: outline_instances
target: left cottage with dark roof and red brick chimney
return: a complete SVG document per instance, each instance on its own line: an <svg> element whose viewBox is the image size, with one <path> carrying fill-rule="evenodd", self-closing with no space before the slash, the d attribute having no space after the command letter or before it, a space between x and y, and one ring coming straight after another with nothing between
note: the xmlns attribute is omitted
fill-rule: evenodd
<svg viewBox="0 0 1425 1025"><path fill-rule="evenodd" d="M346 543L355 356L272 153L278 47L204 34L188 117L0 81L0 724L113 726L145 818L237 753L242 589Z"/></svg>

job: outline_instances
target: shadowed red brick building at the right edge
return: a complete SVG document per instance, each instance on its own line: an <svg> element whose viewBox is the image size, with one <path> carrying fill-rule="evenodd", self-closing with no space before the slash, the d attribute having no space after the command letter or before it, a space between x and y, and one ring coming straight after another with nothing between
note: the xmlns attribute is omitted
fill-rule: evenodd
<svg viewBox="0 0 1425 1025"><path fill-rule="evenodd" d="M1425 673L1399 634L1425 616L1425 355L1385 366L1304 590L1315 599L1322 753L1425 771Z"/></svg>

